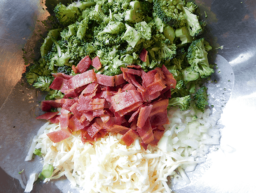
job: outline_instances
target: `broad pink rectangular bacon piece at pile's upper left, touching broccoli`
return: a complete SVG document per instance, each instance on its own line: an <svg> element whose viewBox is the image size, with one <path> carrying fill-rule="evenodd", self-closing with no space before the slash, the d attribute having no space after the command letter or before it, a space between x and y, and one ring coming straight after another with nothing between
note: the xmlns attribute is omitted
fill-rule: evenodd
<svg viewBox="0 0 256 193"><path fill-rule="evenodd" d="M76 74L73 78L69 79L72 88L79 88L97 80L94 70L85 71L81 74Z"/></svg>

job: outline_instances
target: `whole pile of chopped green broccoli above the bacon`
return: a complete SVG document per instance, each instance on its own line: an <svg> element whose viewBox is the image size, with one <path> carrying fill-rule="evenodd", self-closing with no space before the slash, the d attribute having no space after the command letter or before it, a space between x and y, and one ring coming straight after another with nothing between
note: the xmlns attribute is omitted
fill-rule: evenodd
<svg viewBox="0 0 256 193"><path fill-rule="evenodd" d="M198 101L193 96L202 79L213 73L207 59L212 47L198 38L205 24L196 9L195 3L183 0L58 3L53 10L58 28L49 30L41 58L26 73L27 81L48 91L46 99L60 99L64 94L49 89L52 73L75 75L71 67L87 55L91 59L98 56L102 68L94 70L109 76L121 74L120 67L131 64L146 72L165 65L177 80L169 106L186 110L190 102ZM143 49L147 55L142 61ZM198 106L203 111L206 105Z"/></svg>

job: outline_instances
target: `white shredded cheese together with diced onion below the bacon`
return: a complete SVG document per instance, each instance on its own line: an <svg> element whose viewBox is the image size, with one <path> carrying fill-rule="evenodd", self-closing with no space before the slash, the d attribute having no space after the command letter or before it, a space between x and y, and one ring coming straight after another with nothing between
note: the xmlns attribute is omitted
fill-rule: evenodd
<svg viewBox="0 0 256 193"><path fill-rule="evenodd" d="M120 144L120 134L91 145L83 144L77 132L53 143L47 133L61 129L57 124L47 125L33 141L37 142L35 148L41 148L44 165L55 168L45 182L66 176L73 187L80 187L80 193L170 193L167 176L174 183L188 184L186 172L205 161L212 145L218 145L220 125L216 122L221 111L214 116L210 113L209 109L203 114L172 108L164 136L157 147L147 150L140 147L139 139L130 147Z"/></svg>

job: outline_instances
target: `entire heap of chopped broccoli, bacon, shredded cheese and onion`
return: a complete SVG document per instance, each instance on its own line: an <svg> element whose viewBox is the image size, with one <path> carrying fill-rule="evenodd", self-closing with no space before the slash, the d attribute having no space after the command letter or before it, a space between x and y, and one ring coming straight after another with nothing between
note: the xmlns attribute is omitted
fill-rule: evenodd
<svg viewBox="0 0 256 193"><path fill-rule="evenodd" d="M47 166L42 179L65 175L82 192L170 192L167 176L176 174L177 167L184 173L185 163L195 165L195 158L207 151L195 153L200 144L216 144L219 136L212 142L206 142L211 135L201 138L216 122L193 132L196 136L191 127L179 128L210 114L203 83L214 72L207 58L211 46L201 36L205 23L196 10L195 3L183 0L57 4L58 23L26 73L30 84L48 92L41 103L46 113L37 119L47 119L49 125L34 140L34 153ZM184 114L175 122L170 112ZM185 131L190 140L180 143L177 134ZM103 147L108 148L100 151ZM111 166L93 164L99 152L106 160L115 158ZM88 173L98 167L98 172L86 176L79 167ZM146 185L139 187L141 176ZM126 178L131 182L127 186ZM93 182L88 190L85 179ZM97 184L99 179L108 180Z"/></svg>

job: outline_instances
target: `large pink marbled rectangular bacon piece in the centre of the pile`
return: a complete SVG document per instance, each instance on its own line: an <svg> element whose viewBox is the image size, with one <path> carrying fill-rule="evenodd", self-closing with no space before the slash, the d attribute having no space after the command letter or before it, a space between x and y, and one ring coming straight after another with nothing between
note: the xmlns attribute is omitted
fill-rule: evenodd
<svg viewBox="0 0 256 193"><path fill-rule="evenodd" d="M121 111L141 101L143 101L141 94L136 90L129 90L111 97L111 105L115 112Z"/></svg>

